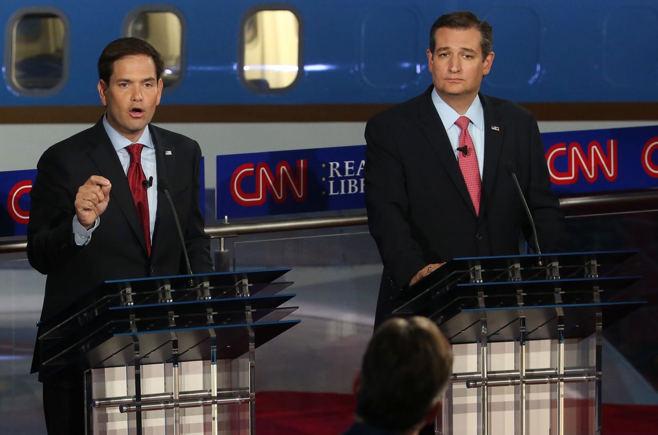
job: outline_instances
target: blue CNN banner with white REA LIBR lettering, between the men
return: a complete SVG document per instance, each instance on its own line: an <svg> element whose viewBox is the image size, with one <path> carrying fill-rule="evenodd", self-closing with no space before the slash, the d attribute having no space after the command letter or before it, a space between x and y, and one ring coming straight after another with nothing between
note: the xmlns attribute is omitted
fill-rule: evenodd
<svg viewBox="0 0 658 435"><path fill-rule="evenodd" d="M217 156L217 218L363 207L363 145Z"/></svg>

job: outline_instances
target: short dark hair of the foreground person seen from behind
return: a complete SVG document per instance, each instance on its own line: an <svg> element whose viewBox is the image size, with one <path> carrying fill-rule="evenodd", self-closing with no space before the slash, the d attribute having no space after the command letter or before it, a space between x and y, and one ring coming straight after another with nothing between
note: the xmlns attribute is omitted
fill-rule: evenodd
<svg viewBox="0 0 658 435"><path fill-rule="evenodd" d="M438 403L451 373L451 347L434 322L388 319L363 356L357 415L384 430L410 430Z"/></svg>

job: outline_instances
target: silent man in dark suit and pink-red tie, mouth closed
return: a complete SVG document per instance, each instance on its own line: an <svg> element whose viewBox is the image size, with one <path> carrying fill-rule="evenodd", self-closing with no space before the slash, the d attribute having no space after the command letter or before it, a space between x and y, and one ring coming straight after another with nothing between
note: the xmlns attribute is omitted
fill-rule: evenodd
<svg viewBox="0 0 658 435"><path fill-rule="evenodd" d="M376 324L396 308L392 296L442 263L519 254L520 235L531 240L506 166L515 168L542 249L566 247L534 116L479 93L492 39L490 24L471 12L438 18L427 50L433 84L366 126L368 225L384 263Z"/></svg>

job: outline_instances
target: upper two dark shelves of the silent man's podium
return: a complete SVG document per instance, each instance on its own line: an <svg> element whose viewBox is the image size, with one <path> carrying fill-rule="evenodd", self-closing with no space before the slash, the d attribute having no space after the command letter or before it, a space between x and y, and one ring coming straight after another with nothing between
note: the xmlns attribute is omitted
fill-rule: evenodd
<svg viewBox="0 0 658 435"><path fill-rule="evenodd" d="M615 276L620 263L637 250L561 252L516 256L455 258L418 283L401 291L393 313L457 315L472 306L544 305L591 302L596 292L609 300L642 279L640 275ZM538 260L542 259L542 265ZM600 291L599 291L600 290ZM553 296L551 296L553 295ZM483 300L478 298L483 297ZM552 298L552 299L551 299ZM448 313L449 311L449 313Z"/></svg>

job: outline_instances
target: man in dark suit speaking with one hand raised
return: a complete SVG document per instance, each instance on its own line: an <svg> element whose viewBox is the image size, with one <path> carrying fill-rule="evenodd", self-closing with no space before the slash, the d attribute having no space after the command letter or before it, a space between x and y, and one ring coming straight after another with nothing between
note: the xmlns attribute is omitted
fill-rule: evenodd
<svg viewBox="0 0 658 435"><path fill-rule="evenodd" d="M141 39L117 39L103 50L98 69L107 112L44 152L32 187L28 259L47 274L39 334L103 281L186 273L164 189L192 271L212 271L199 208L199 145L149 125L163 89L160 54ZM48 433L84 433L82 373L49 377L40 351L37 342L32 371L43 382Z"/></svg>

